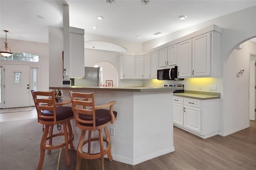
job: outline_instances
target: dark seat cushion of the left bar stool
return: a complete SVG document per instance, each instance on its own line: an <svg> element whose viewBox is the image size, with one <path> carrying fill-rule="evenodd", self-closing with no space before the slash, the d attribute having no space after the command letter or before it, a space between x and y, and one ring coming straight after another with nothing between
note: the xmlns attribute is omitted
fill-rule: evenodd
<svg viewBox="0 0 256 170"><path fill-rule="evenodd" d="M53 111L44 110L42 111L44 116L53 116ZM73 111L71 107L68 106L58 106L56 107L56 121L68 119L73 116ZM43 121L54 121L53 119L42 119Z"/></svg>

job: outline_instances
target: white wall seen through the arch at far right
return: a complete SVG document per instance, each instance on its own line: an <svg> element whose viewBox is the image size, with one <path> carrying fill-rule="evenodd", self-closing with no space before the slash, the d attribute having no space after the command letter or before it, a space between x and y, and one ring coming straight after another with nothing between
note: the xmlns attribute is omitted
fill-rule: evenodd
<svg viewBox="0 0 256 170"><path fill-rule="evenodd" d="M250 125L249 88L250 53L256 53L256 43L246 41L242 49L235 49L224 64L224 134ZM236 73L244 69L240 77Z"/></svg>

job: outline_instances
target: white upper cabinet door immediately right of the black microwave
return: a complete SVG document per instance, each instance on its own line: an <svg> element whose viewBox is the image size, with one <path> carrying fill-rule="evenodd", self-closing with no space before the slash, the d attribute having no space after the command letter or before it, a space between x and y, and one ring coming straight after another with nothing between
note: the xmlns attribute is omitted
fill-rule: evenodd
<svg viewBox="0 0 256 170"><path fill-rule="evenodd" d="M178 78L192 76L192 40L178 43Z"/></svg>

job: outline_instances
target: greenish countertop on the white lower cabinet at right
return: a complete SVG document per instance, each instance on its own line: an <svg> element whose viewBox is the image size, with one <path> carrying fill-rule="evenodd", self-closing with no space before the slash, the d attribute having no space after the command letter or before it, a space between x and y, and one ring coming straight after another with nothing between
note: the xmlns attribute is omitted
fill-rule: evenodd
<svg viewBox="0 0 256 170"><path fill-rule="evenodd" d="M220 93L184 90L184 93L174 93L173 96L206 100L206 99L218 99L220 98Z"/></svg>

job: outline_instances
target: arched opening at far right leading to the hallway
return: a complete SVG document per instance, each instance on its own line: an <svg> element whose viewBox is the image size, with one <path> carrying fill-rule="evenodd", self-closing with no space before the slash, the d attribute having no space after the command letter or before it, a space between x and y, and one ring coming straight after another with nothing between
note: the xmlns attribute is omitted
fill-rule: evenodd
<svg viewBox="0 0 256 170"><path fill-rule="evenodd" d="M248 38L233 48L223 65L224 121L226 127L236 127L234 132L249 127L250 117L255 120L255 56L256 41Z"/></svg>

